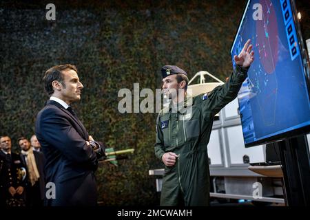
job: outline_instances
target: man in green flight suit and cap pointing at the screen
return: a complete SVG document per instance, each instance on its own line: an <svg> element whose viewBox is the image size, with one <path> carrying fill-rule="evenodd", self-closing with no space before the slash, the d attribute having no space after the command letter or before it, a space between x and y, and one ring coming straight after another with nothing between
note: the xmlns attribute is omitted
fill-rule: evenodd
<svg viewBox="0 0 310 220"><path fill-rule="evenodd" d="M187 73L165 65L163 92L171 103L158 114L155 155L165 164L161 206L209 206L209 143L214 115L234 100L254 61L250 40L238 56L236 68L224 85L186 98ZM191 100L191 101L189 101Z"/></svg>

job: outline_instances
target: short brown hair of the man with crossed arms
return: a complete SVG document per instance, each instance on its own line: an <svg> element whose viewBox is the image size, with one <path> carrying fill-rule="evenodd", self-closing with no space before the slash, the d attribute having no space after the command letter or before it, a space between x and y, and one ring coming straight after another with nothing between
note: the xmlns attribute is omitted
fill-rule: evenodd
<svg viewBox="0 0 310 220"><path fill-rule="evenodd" d="M66 69L73 69L77 73L76 66L71 64L56 65L45 72L45 75L43 77L43 83L45 85L45 91L48 92L49 96L54 93L54 89L52 86L52 82L54 80L59 81L59 83L61 83L61 85L65 87L65 83L63 83L62 71Z"/></svg>

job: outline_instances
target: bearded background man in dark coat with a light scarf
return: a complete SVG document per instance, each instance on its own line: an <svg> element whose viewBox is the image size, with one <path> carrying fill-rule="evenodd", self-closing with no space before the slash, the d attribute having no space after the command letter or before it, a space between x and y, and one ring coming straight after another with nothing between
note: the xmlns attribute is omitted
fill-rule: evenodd
<svg viewBox="0 0 310 220"><path fill-rule="evenodd" d="M43 206L45 196L43 153L34 151L26 137L19 137L21 147L21 160L26 164L28 181L25 188L28 206Z"/></svg>

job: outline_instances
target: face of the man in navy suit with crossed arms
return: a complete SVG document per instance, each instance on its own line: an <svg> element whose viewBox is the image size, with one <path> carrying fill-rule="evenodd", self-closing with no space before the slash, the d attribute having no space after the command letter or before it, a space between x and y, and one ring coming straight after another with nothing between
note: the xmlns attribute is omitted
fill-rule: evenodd
<svg viewBox="0 0 310 220"><path fill-rule="evenodd" d="M79 76L73 69L63 70L62 74L65 87L61 85L61 99L67 104L79 101L83 89L83 84L80 82Z"/></svg>

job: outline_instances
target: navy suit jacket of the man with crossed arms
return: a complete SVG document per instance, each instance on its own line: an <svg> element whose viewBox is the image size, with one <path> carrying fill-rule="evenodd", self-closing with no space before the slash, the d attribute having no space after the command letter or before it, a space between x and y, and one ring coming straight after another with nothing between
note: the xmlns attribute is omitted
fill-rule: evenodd
<svg viewBox="0 0 310 220"><path fill-rule="evenodd" d="M35 130L46 159L46 184L54 183L56 190L56 198L45 198L45 206L95 206L98 161L86 144L83 124L61 104L49 100L37 115Z"/></svg>

